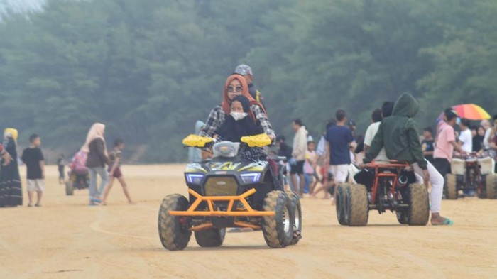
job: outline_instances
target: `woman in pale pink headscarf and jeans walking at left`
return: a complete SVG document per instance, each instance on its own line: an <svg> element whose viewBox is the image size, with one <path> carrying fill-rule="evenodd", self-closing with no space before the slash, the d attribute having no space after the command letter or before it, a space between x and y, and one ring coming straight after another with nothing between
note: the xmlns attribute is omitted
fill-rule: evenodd
<svg viewBox="0 0 497 279"><path fill-rule="evenodd" d="M100 195L104 192L104 188L109 181L109 175L105 169L105 165L109 161L107 154L107 146L104 139L105 125L95 123L89 128L87 140L81 148L81 151L88 154L86 167L89 170L89 204L94 206L102 202ZM100 176L102 182L97 189L97 175Z"/></svg>

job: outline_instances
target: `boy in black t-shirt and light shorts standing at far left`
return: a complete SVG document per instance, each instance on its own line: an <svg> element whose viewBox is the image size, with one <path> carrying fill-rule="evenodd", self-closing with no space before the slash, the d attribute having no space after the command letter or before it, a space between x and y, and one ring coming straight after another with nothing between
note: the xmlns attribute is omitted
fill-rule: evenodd
<svg viewBox="0 0 497 279"><path fill-rule="evenodd" d="M30 145L24 149L22 160L26 164L26 176L28 179L28 207L33 206L33 195L36 191L35 207L41 207L41 197L45 191L45 157L41 151L40 136L33 133L29 137Z"/></svg>

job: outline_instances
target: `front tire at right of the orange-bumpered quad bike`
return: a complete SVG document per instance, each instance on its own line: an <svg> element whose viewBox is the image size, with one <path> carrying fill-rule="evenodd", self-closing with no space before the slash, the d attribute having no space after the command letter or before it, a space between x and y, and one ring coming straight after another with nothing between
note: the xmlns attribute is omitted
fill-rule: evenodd
<svg viewBox="0 0 497 279"><path fill-rule="evenodd" d="M275 212L275 216L265 216L262 231L266 244L271 248L283 248L292 244L293 210L288 195L283 191L271 191L266 195L264 211Z"/></svg>

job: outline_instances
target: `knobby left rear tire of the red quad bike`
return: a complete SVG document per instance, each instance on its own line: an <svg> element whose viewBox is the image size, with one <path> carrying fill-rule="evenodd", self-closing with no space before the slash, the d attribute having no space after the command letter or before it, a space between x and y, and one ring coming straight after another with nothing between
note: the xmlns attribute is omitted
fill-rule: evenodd
<svg viewBox="0 0 497 279"><path fill-rule="evenodd" d="M346 188L346 222L349 226L366 226L369 218L368 190L361 184Z"/></svg>

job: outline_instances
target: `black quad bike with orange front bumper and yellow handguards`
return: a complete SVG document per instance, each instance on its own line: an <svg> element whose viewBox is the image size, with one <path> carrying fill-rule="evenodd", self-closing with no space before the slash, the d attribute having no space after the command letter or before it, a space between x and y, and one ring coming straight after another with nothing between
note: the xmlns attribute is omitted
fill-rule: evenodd
<svg viewBox="0 0 497 279"><path fill-rule="evenodd" d="M271 248L297 244L302 230L300 200L283 191L268 160L247 161L246 147L271 143L266 134L241 138L242 143L190 135L185 146L210 148L212 160L190 163L185 170L189 198L168 195L160 204L158 232L164 248L184 249L192 232L202 247L221 246L226 228L261 229ZM279 180L281 181L281 180Z"/></svg>

